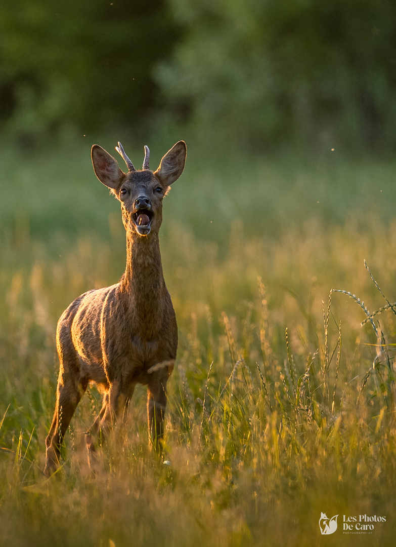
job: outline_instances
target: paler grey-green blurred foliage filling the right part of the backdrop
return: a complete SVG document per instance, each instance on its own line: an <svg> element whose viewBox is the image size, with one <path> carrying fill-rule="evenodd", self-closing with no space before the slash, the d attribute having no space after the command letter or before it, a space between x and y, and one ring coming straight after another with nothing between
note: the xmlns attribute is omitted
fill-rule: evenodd
<svg viewBox="0 0 396 547"><path fill-rule="evenodd" d="M170 0L184 39L158 80L206 135L253 148L396 143L396 4Z"/></svg>

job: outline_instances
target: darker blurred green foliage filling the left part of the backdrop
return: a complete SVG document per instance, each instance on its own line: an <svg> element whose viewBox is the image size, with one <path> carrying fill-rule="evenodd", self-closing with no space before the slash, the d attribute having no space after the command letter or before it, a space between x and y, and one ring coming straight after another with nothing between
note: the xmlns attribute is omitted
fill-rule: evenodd
<svg viewBox="0 0 396 547"><path fill-rule="evenodd" d="M176 36L163 2L0 5L0 119L29 144L49 134L128 127L156 103L152 66Z"/></svg>

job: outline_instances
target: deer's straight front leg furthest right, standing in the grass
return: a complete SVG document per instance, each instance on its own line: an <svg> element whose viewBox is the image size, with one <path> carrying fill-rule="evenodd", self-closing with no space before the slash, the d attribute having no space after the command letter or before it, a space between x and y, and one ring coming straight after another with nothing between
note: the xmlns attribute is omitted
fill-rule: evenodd
<svg viewBox="0 0 396 547"><path fill-rule="evenodd" d="M153 379L147 388L147 420L149 435L157 453L162 456L162 437L164 434L164 417L167 408L167 380L166 377Z"/></svg>

